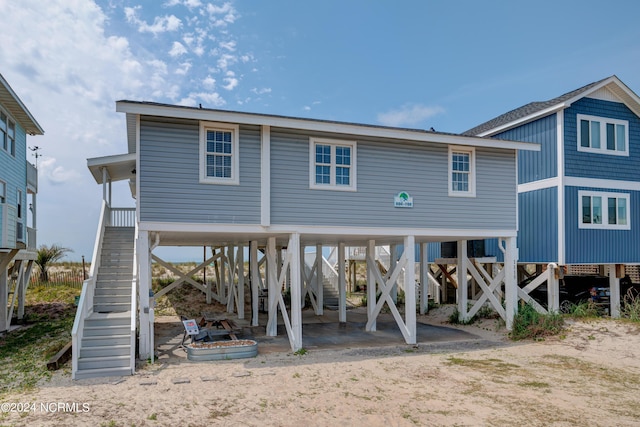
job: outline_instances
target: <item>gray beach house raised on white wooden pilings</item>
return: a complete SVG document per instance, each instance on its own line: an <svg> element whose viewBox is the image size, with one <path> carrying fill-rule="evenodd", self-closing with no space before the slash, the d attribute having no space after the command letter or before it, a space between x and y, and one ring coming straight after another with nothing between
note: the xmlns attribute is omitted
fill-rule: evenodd
<svg viewBox="0 0 640 427"><path fill-rule="evenodd" d="M114 361L114 369L134 369L136 336L138 357L152 356L151 265L165 263L154 254L164 245L223 248L199 268L222 262L224 279L203 285L185 275L183 282L202 290L208 301L227 304L239 318L248 287L253 325L258 325L258 295L268 290L267 334L277 334L281 317L293 350L304 343L305 298L321 315L323 279L330 271L337 275L339 319L347 321L350 248L359 248L366 259L367 330L376 330L387 304L406 342L416 342L416 295L419 306L426 305L428 282L425 263L416 267L429 242L443 241L458 242L458 272L467 272L458 273L461 317L489 303L511 327L517 310L517 152L537 151L538 144L149 102L119 101L116 107L126 115L127 151L88 160L104 186L93 257L104 268L92 265L83 291L74 328L75 377L105 374L105 365L93 364L90 354L101 362L108 356L80 354L85 343L95 345L83 335L83 329L98 328L83 326L92 319L101 324L126 319L115 330L129 353L123 350L122 364ZM117 180L130 182L135 209L111 206L111 183ZM122 235L110 236L115 232ZM499 239L506 260L491 274L466 256L467 240L487 238ZM383 271L379 249L389 245L402 245L403 251ZM323 260L328 246L335 248L335 264ZM315 247L315 262L306 261L306 247ZM110 271L121 256L130 263ZM485 291L471 309L468 275ZM117 291L114 280L127 283L127 290ZM404 315L394 298L400 282ZM123 298L110 298L109 292ZM95 371L98 366L102 371Z"/></svg>

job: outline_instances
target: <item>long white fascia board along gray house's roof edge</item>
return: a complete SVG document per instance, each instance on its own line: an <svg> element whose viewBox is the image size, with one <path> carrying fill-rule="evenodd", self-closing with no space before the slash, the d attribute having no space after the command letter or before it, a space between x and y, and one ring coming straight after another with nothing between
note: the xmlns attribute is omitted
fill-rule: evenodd
<svg viewBox="0 0 640 427"><path fill-rule="evenodd" d="M264 125L300 129L308 131L332 132L356 136L402 139L414 142L468 145L474 147L504 148L512 150L540 151L540 145L530 142L506 141L476 136L449 135L422 130L388 128L375 125L308 120L295 117L269 116L263 114L242 113L177 107L171 105L144 104L129 101L116 102L116 111L159 117L174 117L192 120L219 121L247 125Z"/></svg>

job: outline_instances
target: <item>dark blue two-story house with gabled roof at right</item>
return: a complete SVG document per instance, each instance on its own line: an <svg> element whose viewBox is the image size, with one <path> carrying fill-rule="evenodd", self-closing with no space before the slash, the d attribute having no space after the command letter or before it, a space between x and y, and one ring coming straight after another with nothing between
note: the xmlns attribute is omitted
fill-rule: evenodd
<svg viewBox="0 0 640 427"><path fill-rule="evenodd" d="M611 76L464 135L541 145L518 153L519 263L601 266L618 315L619 279L640 264L638 95Z"/></svg>

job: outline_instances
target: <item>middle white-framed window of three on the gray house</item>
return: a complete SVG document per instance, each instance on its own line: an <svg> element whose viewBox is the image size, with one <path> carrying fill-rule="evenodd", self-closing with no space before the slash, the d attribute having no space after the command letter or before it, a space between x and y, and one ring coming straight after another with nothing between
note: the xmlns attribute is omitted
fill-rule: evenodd
<svg viewBox="0 0 640 427"><path fill-rule="evenodd" d="M309 141L310 187L356 191L356 142L321 138Z"/></svg>

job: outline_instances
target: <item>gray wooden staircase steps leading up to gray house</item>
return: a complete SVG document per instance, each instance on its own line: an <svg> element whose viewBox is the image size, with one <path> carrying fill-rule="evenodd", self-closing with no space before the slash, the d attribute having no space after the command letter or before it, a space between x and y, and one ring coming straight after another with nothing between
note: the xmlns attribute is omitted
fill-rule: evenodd
<svg viewBox="0 0 640 427"><path fill-rule="evenodd" d="M106 227L93 312L84 320L76 379L132 373L133 248L133 227Z"/></svg>

